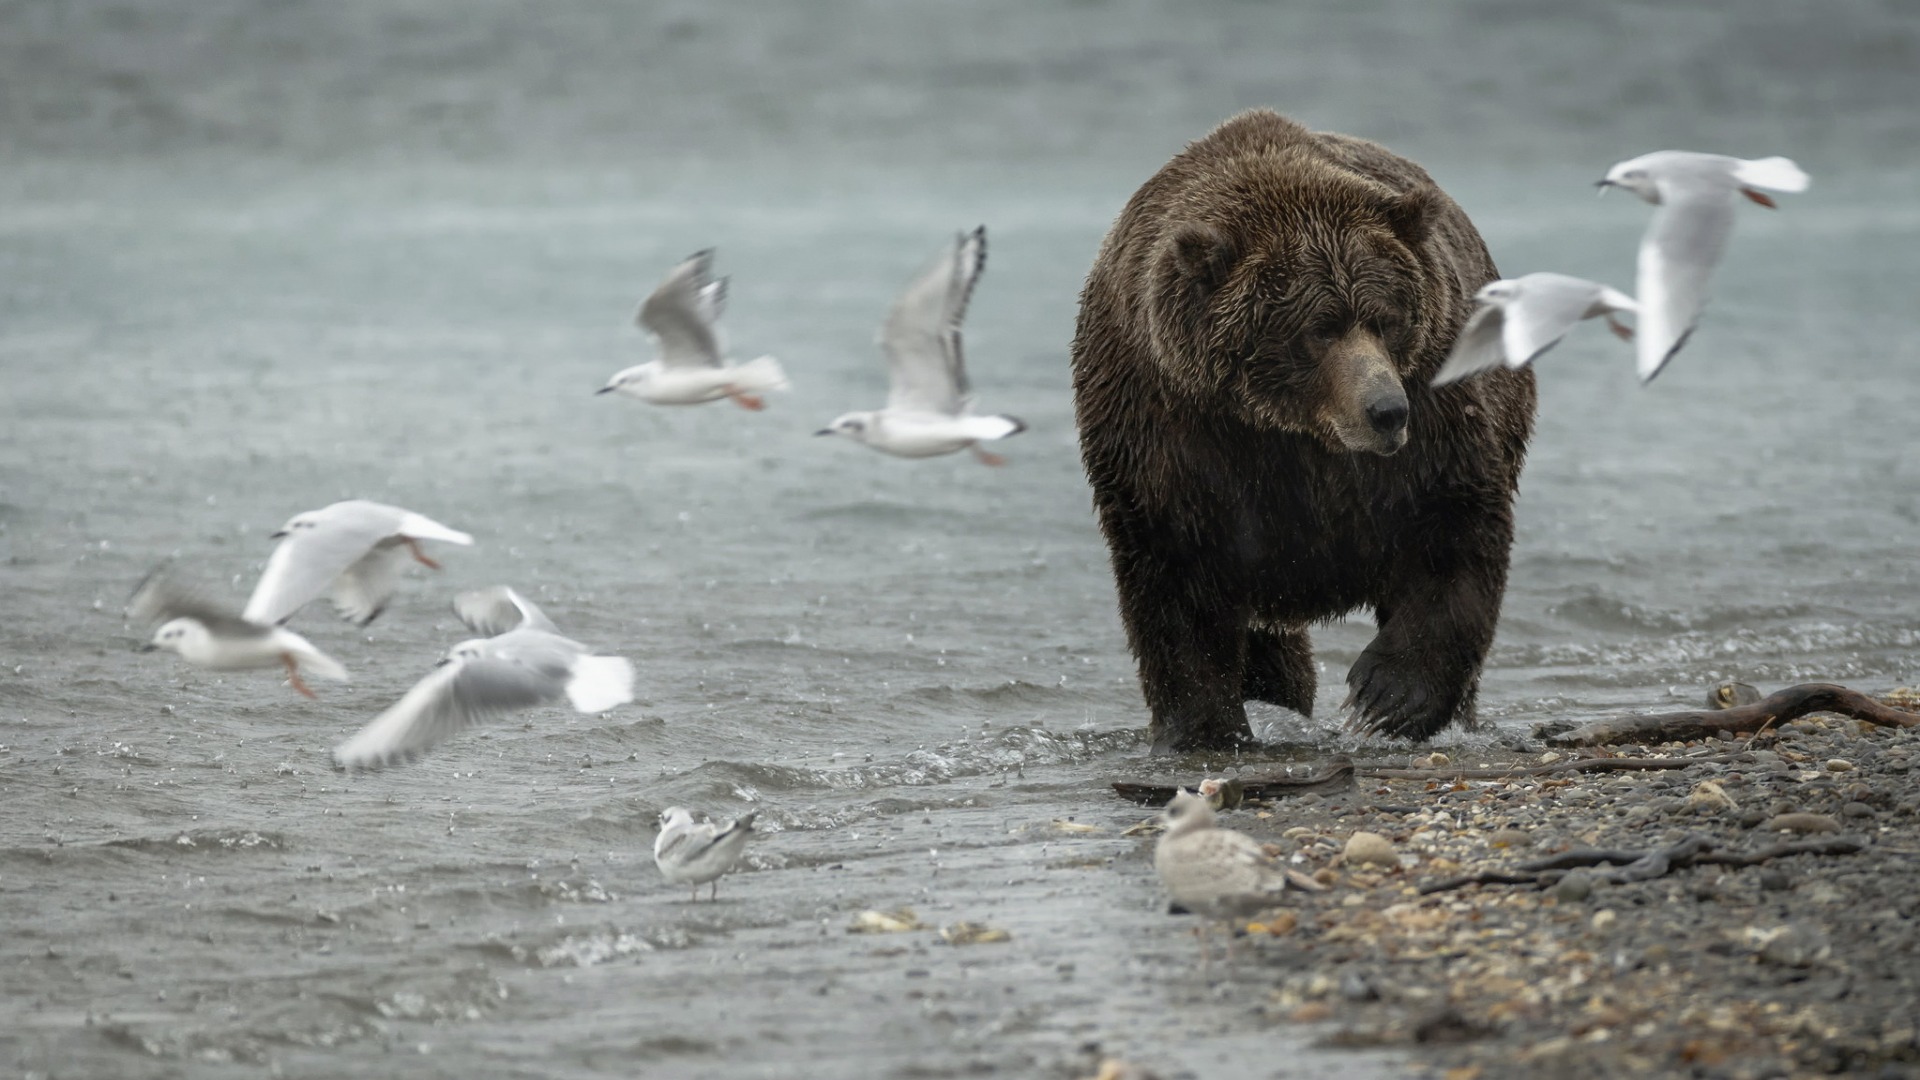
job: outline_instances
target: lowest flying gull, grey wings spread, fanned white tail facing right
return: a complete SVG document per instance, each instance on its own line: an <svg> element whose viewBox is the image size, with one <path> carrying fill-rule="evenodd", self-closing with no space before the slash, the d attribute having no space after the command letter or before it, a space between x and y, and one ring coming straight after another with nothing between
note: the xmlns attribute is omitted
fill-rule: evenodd
<svg viewBox="0 0 1920 1080"><path fill-rule="evenodd" d="M634 665L626 657L589 655L503 584L459 594L453 613L490 636L453 646L432 675L336 746L334 763L378 769L411 761L463 728L563 698L582 713L634 700Z"/></svg>

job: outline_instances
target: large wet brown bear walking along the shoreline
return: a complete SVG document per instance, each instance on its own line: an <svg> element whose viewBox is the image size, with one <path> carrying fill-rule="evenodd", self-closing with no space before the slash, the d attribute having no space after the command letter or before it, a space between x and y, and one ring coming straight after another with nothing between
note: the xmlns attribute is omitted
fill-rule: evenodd
<svg viewBox="0 0 1920 1080"><path fill-rule="evenodd" d="M1073 404L1160 751L1311 715L1308 625L1371 607L1361 728L1473 723L1534 375L1428 386L1496 279L1419 165L1254 110L1121 209L1081 292Z"/></svg>

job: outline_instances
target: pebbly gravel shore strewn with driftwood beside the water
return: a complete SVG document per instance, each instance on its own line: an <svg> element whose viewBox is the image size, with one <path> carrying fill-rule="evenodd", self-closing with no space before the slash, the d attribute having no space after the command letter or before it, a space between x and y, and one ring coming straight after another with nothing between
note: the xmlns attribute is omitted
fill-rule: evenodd
<svg viewBox="0 0 1920 1080"><path fill-rule="evenodd" d="M1903 690L1887 703L1912 709L1916 698ZM1417 1074L1448 1080L1920 1074L1920 728L1816 713L1759 738L1611 751L1507 742L1459 761L1361 761L1352 792L1227 813L1223 824L1271 840L1332 886L1240 920L1236 994L1311 1026L1321 1045L1405 1047ZM1715 761L1513 780L1367 776L1590 753ZM1857 849L1626 882L1609 880L1619 867L1548 871L1540 884L1423 894L1571 849L1657 851L1686 838L1732 855L1822 840Z"/></svg>

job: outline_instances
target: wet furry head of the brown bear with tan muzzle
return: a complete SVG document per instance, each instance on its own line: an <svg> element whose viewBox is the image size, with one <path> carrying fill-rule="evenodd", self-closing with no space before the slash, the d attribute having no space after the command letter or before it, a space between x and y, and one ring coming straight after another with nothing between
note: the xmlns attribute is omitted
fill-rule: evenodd
<svg viewBox="0 0 1920 1080"><path fill-rule="evenodd" d="M1325 165L1223 177L1154 259L1154 352L1185 390L1334 452L1407 442L1407 386L1448 313L1423 244L1438 192Z"/></svg>

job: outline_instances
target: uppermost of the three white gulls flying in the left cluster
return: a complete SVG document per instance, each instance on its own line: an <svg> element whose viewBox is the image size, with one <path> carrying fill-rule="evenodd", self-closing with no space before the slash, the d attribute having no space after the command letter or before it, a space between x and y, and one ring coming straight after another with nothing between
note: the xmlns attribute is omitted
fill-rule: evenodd
<svg viewBox="0 0 1920 1080"><path fill-rule="evenodd" d="M326 594L342 619L372 623L399 588L399 571L413 561L440 569L420 552L420 540L472 544L474 538L430 517L367 500L336 502L296 513L273 538L280 546L267 559L244 619L286 623L311 600Z"/></svg>

